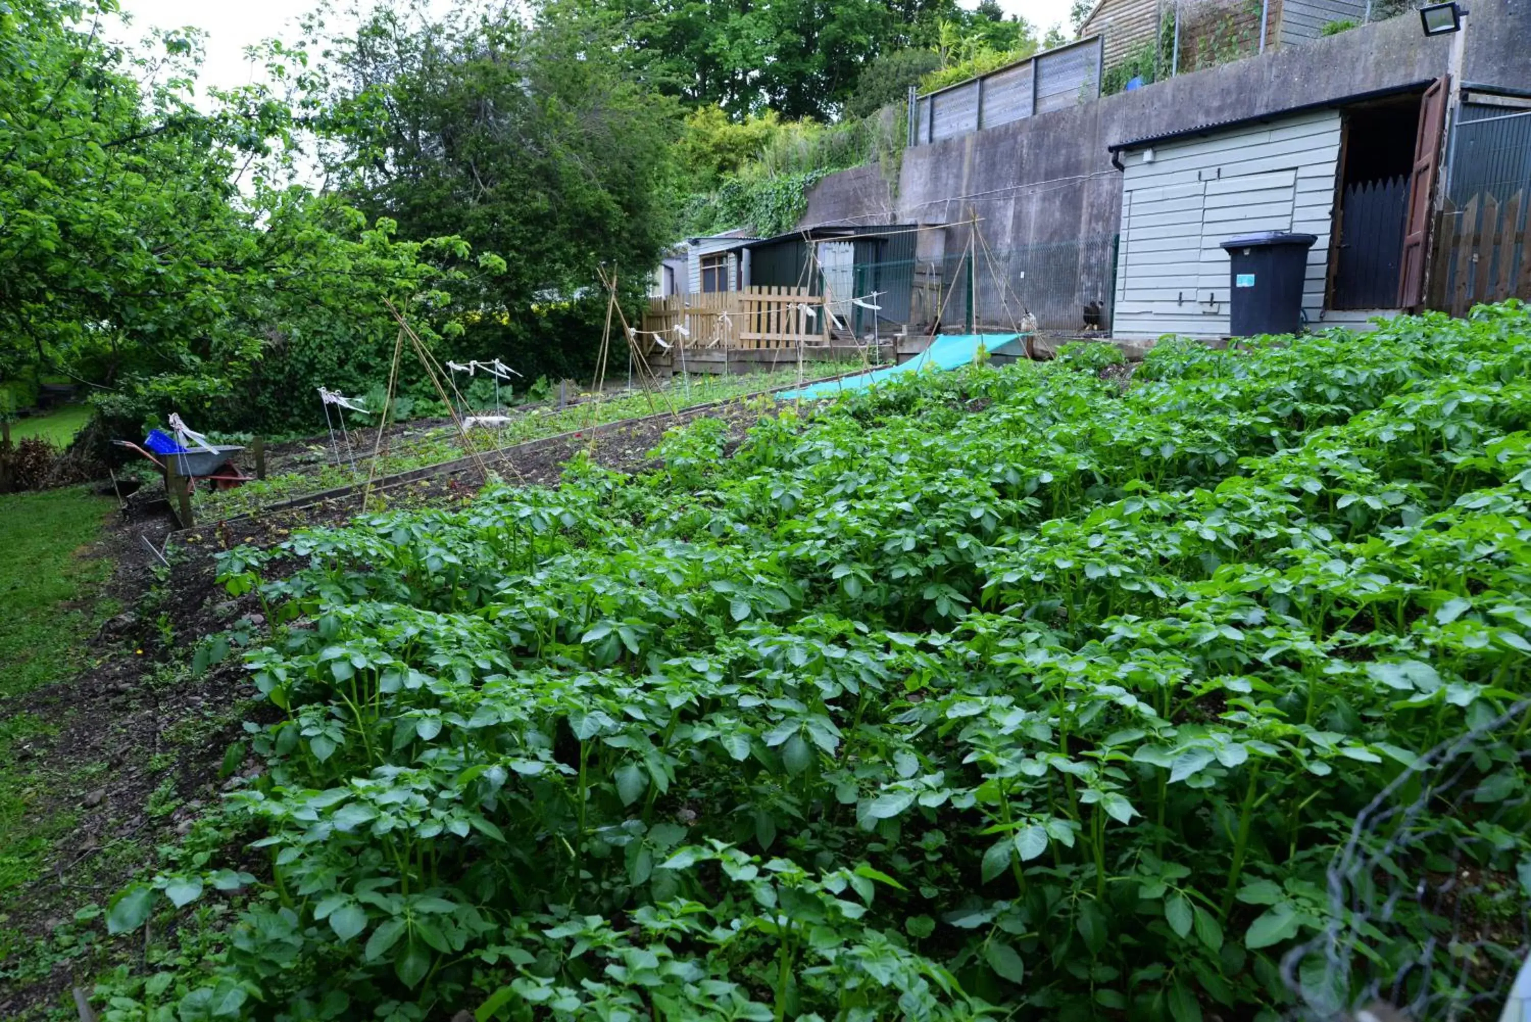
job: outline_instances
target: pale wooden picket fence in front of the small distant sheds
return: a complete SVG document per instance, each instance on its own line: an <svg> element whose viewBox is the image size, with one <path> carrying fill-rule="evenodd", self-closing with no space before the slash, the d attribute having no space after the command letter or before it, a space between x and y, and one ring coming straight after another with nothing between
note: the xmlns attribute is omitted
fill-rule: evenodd
<svg viewBox="0 0 1531 1022"><path fill-rule="evenodd" d="M677 331L677 325L689 336ZM792 287L649 299L643 329L648 331L645 351L660 346L654 334L671 348L683 345L687 349L796 348L830 342L824 296Z"/></svg>

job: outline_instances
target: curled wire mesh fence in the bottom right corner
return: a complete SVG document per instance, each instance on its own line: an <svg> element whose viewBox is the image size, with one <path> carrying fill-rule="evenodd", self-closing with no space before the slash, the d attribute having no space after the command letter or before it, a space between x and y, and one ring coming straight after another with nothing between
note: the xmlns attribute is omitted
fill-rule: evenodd
<svg viewBox="0 0 1531 1022"><path fill-rule="evenodd" d="M1294 1019L1526 1017L1511 991L1531 952L1531 700L1479 717L1335 821L1344 840L1312 892L1326 924L1281 962Z"/></svg>

